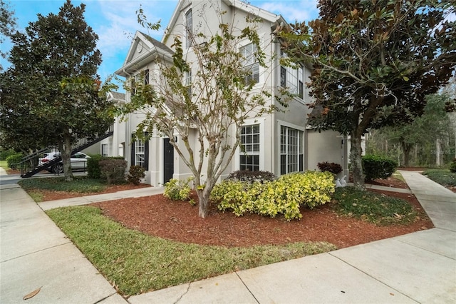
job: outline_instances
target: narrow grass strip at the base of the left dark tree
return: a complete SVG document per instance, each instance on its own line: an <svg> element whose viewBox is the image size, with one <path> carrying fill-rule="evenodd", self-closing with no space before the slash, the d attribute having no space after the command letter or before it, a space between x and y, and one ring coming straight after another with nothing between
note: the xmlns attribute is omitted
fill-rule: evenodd
<svg viewBox="0 0 456 304"><path fill-rule="evenodd" d="M76 176L73 181L65 181L64 177L26 178L18 182L25 191L33 189L66 191L77 193L93 193L103 191L108 185L100 179Z"/></svg>

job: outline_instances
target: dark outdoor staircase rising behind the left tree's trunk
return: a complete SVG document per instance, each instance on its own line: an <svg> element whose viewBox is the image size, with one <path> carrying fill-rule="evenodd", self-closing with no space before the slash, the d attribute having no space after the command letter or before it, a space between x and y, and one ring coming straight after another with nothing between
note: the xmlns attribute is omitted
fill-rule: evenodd
<svg viewBox="0 0 456 304"><path fill-rule="evenodd" d="M109 136L112 136L114 131L107 131L103 135L97 137L97 138L83 138L79 139L76 141L76 143L73 144L73 149L71 150L71 155L74 153L77 153L79 151L83 151L85 148L88 148L95 143L98 143L100 141L103 141L103 139L108 138ZM22 178L28 178L36 173L46 170L47 168L51 168L51 166L55 165L56 163L61 162L62 158L56 157L51 159L50 161L46 161L46 163L39 163L39 158L43 155L43 153L46 153L48 151L57 151L56 146L48 146L46 148L41 149L40 151L36 151L35 153L32 153L28 156L25 156L22 158L20 163L16 163L15 166L16 168L21 169L21 177Z"/></svg>

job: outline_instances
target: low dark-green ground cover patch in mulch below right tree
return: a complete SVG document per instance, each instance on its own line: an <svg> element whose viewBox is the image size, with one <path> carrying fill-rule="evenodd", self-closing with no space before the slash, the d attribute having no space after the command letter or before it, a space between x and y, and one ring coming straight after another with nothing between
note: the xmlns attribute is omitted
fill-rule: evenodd
<svg viewBox="0 0 456 304"><path fill-rule="evenodd" d="M415 221L415 209L407 201L383 194L339 187L333 195L336 210L378 225L408 224Z"/></svg>

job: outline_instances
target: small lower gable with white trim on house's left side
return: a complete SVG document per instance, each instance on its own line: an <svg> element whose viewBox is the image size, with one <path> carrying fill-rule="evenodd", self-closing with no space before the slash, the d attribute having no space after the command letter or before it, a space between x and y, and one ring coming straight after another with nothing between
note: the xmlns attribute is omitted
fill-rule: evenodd
<svg viewBox="0 0 456 304"><path fill-rule="evenodd" d="M144 50L142 54L138 54L137 51L140 44ZM172 60L172 54L174 54L172 49L165 46L165 44L147 34L136 31L123 66L115 71L115 74L123 77L130 76L130 74L134 74L146 64L154 61L158 56Z"/></svg>

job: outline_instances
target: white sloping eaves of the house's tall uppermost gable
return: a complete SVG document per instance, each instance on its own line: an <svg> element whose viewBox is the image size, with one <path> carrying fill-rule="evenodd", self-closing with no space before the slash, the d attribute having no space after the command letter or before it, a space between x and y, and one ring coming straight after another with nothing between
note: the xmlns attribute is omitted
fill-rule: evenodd
<svg viewBox="0 0 456 304"><path fill-rule="evenodd" d="M193 0L193 1L195 1L195 0ZM204 1L204 0L196 0L196 1ZM286 24L285 19L281 15L277 15L277 14L271 13L270 11L260 9L259 7L253 6L252 4L247 4L240 0L219 0L219 1L222 1L227 6L233 6L236 9L245 11L248 14L253 14L254 16L258 16L259 18L269 21L271 23L277 23L277 24L285 23ZM179 15L180 15L180 11L182 11L182 9L185 9L190 4L192 4L192 0L179 0L179 3L177 4L176 8L174 9L174 12L172 13L170 22L168 23L167 27L165 28L165 34L162 37L162 42L165 42L165 39L167 38L167 34L175 27L175 24L178 21L177 19L179 18Z"/></svg>

